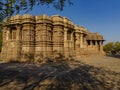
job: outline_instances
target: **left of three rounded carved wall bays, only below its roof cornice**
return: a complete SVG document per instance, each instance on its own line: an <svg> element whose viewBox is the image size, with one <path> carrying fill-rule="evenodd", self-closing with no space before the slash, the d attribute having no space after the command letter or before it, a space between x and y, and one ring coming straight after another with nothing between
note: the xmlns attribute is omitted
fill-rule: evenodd
<svg viewBox="0 0 120 90"><path fill-rule="evenodd" d="M34 53L34 24L23 24L22 52Z"/></svg>

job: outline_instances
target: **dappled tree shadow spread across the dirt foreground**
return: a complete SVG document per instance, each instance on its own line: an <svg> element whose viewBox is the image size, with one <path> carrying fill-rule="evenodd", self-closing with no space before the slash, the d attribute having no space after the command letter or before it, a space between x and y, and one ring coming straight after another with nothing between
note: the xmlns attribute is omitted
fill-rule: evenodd
<svg viewBox="0 0 120 90"><path fill-rule="evenodd" d="M81 62L0 64L0 90L120 90L120 73Z"/></svg>

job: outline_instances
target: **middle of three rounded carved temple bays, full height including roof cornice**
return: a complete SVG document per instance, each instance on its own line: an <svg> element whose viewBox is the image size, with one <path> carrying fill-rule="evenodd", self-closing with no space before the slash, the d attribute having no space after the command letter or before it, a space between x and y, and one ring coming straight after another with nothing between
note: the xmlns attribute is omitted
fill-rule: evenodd
<svg viewBox="0 0 120 90"><path fill-rule="evenodd" d="M44 56L52 54L52 18L47 15L36 16L35 53Z"/></svg>

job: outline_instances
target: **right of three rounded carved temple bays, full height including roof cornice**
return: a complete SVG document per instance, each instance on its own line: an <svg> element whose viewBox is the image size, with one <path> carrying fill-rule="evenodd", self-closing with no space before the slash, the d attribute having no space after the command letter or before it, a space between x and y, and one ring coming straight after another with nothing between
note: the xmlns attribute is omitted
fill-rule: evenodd
<svg viewBox="0 0 120 90"><path fill-rule="evenodd" d="M64 53L64 20L63 17L55 15L53 20L53 51Z"/></svg>

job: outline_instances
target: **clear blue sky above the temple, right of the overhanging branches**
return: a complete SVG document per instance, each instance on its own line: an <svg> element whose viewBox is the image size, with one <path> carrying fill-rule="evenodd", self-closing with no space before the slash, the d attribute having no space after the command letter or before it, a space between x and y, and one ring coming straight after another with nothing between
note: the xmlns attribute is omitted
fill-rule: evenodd
<svg viewBox="0 0 120 90"><path fill-rule="evenodd" d="M91 32L99 32L106 40L120 41L120 0L72 0L73 5L65 5L63 11L52 6L35 6L29 14L65 16L74 24L86 27Z"/></svg>

